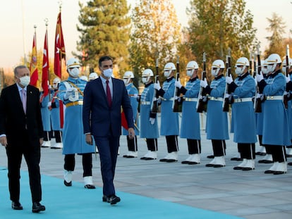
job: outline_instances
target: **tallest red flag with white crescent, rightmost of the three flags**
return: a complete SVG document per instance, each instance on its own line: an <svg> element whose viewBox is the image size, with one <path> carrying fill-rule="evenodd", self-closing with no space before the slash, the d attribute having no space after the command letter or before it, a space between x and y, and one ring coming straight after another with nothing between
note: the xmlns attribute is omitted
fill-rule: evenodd
<svg viewBox="0 0 292 219"><path fill-rule="evenodd" d="M54 54L54 73L61 78L61 61L62 58L66 59L65 44L63 39L63 30L61 25L61 11L59 12L56 23L55 35L55 54Z"/></svg>

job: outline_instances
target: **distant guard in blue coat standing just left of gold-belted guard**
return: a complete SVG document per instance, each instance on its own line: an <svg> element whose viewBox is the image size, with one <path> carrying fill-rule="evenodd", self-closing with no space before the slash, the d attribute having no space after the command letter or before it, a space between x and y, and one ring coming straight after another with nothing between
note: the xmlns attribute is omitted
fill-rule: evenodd
<svg viewBox="0 0 292 219"><path fill-rule="evenodd" d="M56 144L54 146L51 146L51 149L63 148L61 118L60 118L60 104L63 105L63 102L59 101L58 96L57 96L60 82L61 80L59 77L54 78L53 86L52 86L53 91L51 93L52 99L51 99L51 103L49 104L50 105L49 109L51 110L51 129L53 130L54 137L56 139Z"/></svg>

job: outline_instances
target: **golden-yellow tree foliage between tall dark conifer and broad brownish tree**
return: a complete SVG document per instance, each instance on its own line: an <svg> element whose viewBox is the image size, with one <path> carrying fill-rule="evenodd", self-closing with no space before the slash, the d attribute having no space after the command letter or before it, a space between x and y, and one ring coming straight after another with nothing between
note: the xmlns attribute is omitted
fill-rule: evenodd
<svg viewBox="0 0 292 219"><path fill-rule="evenodd" d="M130 36L130 65L141 75L159 59L160 75L168 62L176 63L181 26L170 0L140 0L133 8L133 30Z"/></svg>

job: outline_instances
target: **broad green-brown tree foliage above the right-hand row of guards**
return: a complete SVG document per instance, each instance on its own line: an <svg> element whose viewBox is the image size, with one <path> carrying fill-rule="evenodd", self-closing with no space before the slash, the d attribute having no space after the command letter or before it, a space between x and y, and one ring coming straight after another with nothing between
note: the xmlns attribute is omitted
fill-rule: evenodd
<svg viewBox="0 0 292 219"><path fill-rule="evenodd" d="M249 57L250 50L255 49L253 15L245 10L244 0L192 0L187 13L188 45L198 63L202 63L204 51L210 66L218 58L225 61L228 48L233 64L241 56Z"/></svg>

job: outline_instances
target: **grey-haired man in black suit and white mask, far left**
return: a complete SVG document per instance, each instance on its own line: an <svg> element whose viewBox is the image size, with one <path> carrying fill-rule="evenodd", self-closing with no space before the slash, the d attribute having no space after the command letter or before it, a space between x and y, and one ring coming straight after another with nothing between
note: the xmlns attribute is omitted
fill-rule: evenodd
<svg viewBox="0 0 292 219"><path fill-rule="evenodd" d="M6 87L0 97L0 142L6 147L8 184L12 208L22 210L20 165L22 156L28 165L32 212L44 211L39 171L40 146L44 130L39 106L39 89L30 86L30 70L25 65L14 69L16 83Z"/></svg>

